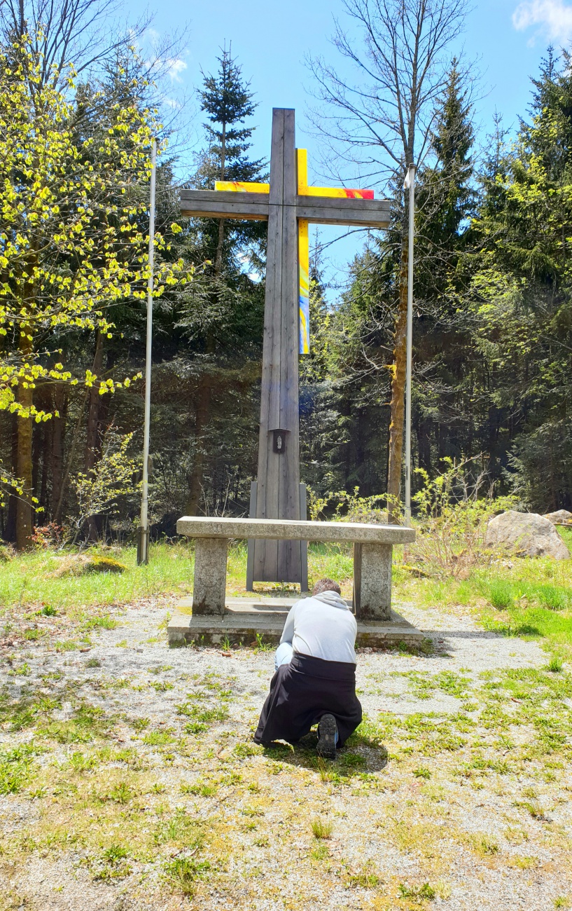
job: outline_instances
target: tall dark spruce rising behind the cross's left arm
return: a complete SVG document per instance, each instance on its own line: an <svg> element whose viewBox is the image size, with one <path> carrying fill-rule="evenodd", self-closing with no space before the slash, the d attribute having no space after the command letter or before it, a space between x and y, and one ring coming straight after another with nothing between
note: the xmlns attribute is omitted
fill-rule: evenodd
<svg viewBox="0 0 572 911"><path fill-rule="evenodd" d="M206 149L195 176L195 185L213 189L216 180L266 179L263 160L250 159L253 127L244 126L256 109L250 82L230 49L218 58L215 76L203 76L199 92L207 114ZM263 285L251 272L263 270L266 224L258 221L200 220L190 228L197 262L210 261L188 298L181 325L198 345L201 367L197 389L194 463L189 478L187 511L199 511L209 465L209 434L213 426L212 403L238 374L251 374L248 359L260 357ZM245 363L246 358L246 363ZM218 363L222 359L224 363ZM250 381L251 382L251 381ZM253 437L254 439L254 437ZM218 443L221 449L220 442ZM214 452L214 449L213 449ZM214 456L213 456L214 457ZM219 456L220 458L220 456Z"/></svg>

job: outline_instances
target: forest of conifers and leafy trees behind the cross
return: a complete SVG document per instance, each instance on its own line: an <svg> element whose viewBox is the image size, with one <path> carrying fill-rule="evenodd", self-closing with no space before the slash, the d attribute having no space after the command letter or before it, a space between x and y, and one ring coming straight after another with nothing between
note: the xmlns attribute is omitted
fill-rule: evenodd
<svg viewBox="0 0 572 911"><path fill-rule="evenodd" d="M207 189L221 177L267 175L250 145L256 86L242 72L248 61L224 49L205 62L197 87L204 132L190 167L166 141L169 48L149 63L135 49L145 23L117 38L105 27L107 4L74 2L83 31L66 32L65 18L46 21L41 4L2 7L0 537L20 548L33 536L128 537L138 523L153 134L162 140L153 534L173 535L182 513L245 515L256 474L264 226L229 221L220 230L180 219L178 207L181 169L183 185ZM355 19L367 8L356 0L346 13ZM498 494L516 490L535 511L570 508L570 58L547 51L515 138L498 121L477 131L479 86L451 47L465 7L433 8L456 18L434 58L431 92L419 101L416 146L400 148L398 136L393 159L379 130L367 142L344 132L343 118L360 116L336 84L336 54L348 48L339 40L331 60L311 63L322 112L332 112L316 121L322 148L342 150L360 176L372 165L368 186L391 197L393 216L390 230L368 235L335 299L326 297L320 245L313 251L301 479L326 513L340 500L328 498L332 491L357 488L383 502L391 487L403 172L413 158L413 458L423 470L414 490L444 470L444 459L473 459ZM374 54L367 29L360 34L352 46L358 76ZM379 56L376 66L379 79ZM368 108L369 127L383 120L380 112L387 125L391 93L371 97L379 107Z"/></svg>

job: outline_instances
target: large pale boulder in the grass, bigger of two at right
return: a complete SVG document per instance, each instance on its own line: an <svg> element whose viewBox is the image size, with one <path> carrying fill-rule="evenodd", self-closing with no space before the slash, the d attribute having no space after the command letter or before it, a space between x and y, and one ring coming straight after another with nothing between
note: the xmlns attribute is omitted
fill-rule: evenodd
<svg viewBox="0 0 572 911"><path fill-rule="evenodd" d="M520 557L555 557L568 560L570 552L556 527L537 513L506 513L490 519L485 548L512 550Z"/></svg>

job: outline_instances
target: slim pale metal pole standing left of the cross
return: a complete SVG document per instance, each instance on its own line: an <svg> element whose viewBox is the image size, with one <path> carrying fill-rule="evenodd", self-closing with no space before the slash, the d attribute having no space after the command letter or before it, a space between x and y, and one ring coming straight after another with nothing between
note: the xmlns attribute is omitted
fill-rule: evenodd
<svg viewBox="0 0 572 911"><path fill-rule="evenodd" d="M153 254L155 251L155 166L157 141L151 142L151 186L149 192L149 274L147 280L147 353L145 358L145 422L143 427L143 484L141 486L141 521L138 528L138 566L149 561L148 480L149 424L151 417L151 343L153 340Z"/></svg>

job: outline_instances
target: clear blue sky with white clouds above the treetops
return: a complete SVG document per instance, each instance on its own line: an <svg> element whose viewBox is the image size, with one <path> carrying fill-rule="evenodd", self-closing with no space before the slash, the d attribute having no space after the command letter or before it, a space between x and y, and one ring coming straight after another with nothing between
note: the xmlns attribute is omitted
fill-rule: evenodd
<svg viewBox="0 0 572 911"><path fill-rule="evenodd" d="M310 178L321 182L312 171L317 161L316 140L306 128L304 112L312 87L304 56L335 57L328 41L332 17L343 18L341 0L190 0L185 4L161 3L148 6L143 0L127 0L128 11L140 15L154 9L153 29L158 35L177 33L189 25L189 37L172 67L173 96L190 93L199 85L200 69L216 69L216 56L226 40L232 42L245 77L251 79L259 107L254 154L265 156L270 145L271 108L295 107L297 145L309 150ZM481 95L476 104L479 140L491 127L495 110L507 127L515 127L518 115L526 115L530 97L530 76L538 72L546 46L567 46L572 39L572 0L475 0L467 17L465 35L459 46L468 59L477 59L482 74ZM461 47L462 46L462 47ZM200 136L199 113L194 121L195 137ZM191 136L193 133L191 131ZM312 151L314 154L312 154ZM336 236L336 229L324 229L323 239ZM339 232L338 232L339 233ZM359 235L331 248L332 269L359 249Z"/></svg>

